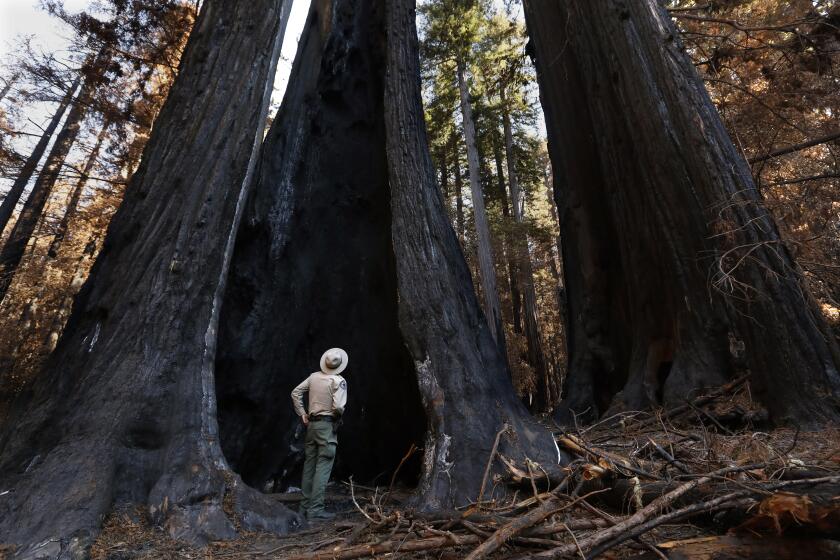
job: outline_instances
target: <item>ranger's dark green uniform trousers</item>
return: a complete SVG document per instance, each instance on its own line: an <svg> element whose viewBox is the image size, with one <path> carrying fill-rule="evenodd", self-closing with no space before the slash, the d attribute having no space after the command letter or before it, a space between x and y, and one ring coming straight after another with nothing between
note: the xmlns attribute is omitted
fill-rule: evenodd
<svg viewBox="0 0 840 560"><path fill-rule="evenodd" d="M306 462L303 464L303 501L307 515L324 511L324 493L330 479L338 438L332 422L312 420L306 428Z"/></svg>

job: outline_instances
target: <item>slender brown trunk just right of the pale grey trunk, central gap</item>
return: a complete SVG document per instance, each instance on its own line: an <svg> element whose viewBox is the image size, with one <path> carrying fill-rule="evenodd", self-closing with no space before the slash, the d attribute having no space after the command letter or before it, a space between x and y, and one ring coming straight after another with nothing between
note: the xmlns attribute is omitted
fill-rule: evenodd
<svg viewBox="0 0 840 560"><path fill-rule="evenodd" d="M533 408L545 411L551 408L557 400L557 380L551 375L551 369L545 359L542 335L540 333L539 317L537 315L537 293L534 289L534 268L531 263L531 251L528 247L528 234L524 230L525 196L519 188L519 177L516 173L516 160L513 155L513 131L511 129L510 113L507 111L507 97L505 88L501 88L502 127L505 134L505 159L508 168L508 184L510 185L511 206L513 219L518 226L515 235L517 262L519 265L519 281L525 293L525 338L528 343L528 363L534 369L537 378L537 394Z"/></svg>

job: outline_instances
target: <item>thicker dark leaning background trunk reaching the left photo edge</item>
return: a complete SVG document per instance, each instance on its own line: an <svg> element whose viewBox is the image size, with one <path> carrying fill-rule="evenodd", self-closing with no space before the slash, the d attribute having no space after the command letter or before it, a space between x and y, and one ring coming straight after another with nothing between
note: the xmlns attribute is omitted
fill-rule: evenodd
<svg viewBox="0 0 840 560"><path fill-rule="evenodd" d="M68 113L64 125L61 127L61 132L58 133L55 143L53 143L50 153L44 161L41 173L38 174L38 179L32 186L32 192L29 193L29 197L20 211L20 216L18 216L9 238L3 245L3 250L0 251L0 302L3 301L9 290L15 271L17 271L17 267L26 253L26 246L35 233L35 228L44 213L44 207L61 175L64 161L79 136L82 121L85 120L93 93L101 80L101 73L95 71L97 68L101 68L101 58L102 55L94 62L94 71L85 78L82 89L73 101L70 113Z"/></svg>

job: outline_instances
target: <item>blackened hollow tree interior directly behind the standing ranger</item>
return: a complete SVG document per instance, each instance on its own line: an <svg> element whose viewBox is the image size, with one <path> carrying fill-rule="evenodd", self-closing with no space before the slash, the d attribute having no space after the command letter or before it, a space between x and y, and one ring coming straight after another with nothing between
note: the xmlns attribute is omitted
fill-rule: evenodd
<svg viewBox="0 0 840 560"><path fill-rule="evenodd" d="M300 484L303 429L289 394L335 346L350 356L335 475L390 477L422 444L423 409L397 325L383 44L379 0L314 2L263 148L217 360L225 456L255 485ZM418 470L415 461L401 472L414 483Z"/></svg>

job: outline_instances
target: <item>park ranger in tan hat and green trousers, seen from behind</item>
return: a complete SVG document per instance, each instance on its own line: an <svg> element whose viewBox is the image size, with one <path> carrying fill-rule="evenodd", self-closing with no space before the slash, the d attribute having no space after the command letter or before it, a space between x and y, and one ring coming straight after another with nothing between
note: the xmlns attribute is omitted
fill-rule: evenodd
<svg viewBox="0 0 840 560"><path fill-rule="evenodd" d="M331 348L321 356L321 371L316 371L292 391L295 412L306 426L306 462L303 464L303 501L300 512L308 519L332 519L324 510L324 493L330 479L335 448L338 445L336 423L347 404L347 381L341 372L347 367L347 352ZM309 393L308 412L303 408L303 394Z"/></svg>

